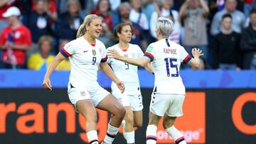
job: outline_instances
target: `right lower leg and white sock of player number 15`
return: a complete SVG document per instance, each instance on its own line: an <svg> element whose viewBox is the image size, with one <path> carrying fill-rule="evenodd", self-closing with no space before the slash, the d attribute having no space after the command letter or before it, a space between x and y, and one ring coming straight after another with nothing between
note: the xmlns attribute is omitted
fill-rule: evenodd
<svg viewBox="0 0 256 144"><path fill-rule="evenodd" d="M183 135L181 134L181 132L178 131L174 127L175 120L176 120L176 117L167 116L165 114L164 115L164 121L163 121L164 129L166 130L166 133L171 135L171 138L173 138L175 140L175 143L177 143L177 144L186 144L186 141L183 138Z"/></svg>

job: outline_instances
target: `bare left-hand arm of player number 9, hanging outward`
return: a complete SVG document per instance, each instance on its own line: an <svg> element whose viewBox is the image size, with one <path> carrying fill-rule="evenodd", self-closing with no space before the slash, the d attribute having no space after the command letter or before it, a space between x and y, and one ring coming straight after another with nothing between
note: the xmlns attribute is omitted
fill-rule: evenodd
<svg viewBox="0 0 256 144"><path fill-rule="evenodd" d="M56 57L54 57L53 62L50 62L50 65L46 71L45 77L43 79L43 87L45 89L52 90L51 84L50 84L50 74L55 70L55 68L58 66L58 64L65 60L65 57L59 52Z"/></svg>

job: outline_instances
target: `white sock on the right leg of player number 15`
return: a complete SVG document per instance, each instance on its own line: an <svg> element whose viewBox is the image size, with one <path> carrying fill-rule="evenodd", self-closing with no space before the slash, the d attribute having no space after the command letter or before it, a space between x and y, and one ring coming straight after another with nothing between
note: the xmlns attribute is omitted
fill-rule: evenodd
<svg viewBox="0 0 256 144"><path fill-rule="evenodd" d="M166 128L166 133L171 135L171 138L175 140L176 144L186 144L185 139L183 138L183 135L180 131L177 130L174 126L171 126L170 128Z"/></svg>

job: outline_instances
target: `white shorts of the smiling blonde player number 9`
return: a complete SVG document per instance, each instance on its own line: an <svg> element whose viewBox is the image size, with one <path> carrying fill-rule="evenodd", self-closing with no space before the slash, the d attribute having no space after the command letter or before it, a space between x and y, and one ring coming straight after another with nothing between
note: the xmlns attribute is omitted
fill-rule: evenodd
<svg viewBox="0 0 256 144"><path fill-rule="evenodd" d="M70 87L68 84L68 97L72 104L74 104L76 109L76 104L78 101L83 99L92 99L93 105L96 107L102 99L104 99L110 92L107 92L106 89L102 87L95 87L94 90L88 91L85 88L77 88L77 87Z"/></svg>

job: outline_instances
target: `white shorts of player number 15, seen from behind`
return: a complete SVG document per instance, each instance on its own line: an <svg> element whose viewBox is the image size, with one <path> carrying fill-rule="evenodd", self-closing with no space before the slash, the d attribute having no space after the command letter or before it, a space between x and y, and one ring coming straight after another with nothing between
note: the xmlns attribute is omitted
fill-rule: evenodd
<svg viewBox="0 0 256 144"><path fill-rule="evenodd" d="M185 95L182 94L159 94L151 95L150 112L157 116L178 117L182 116L182 105Z"/></svg>

